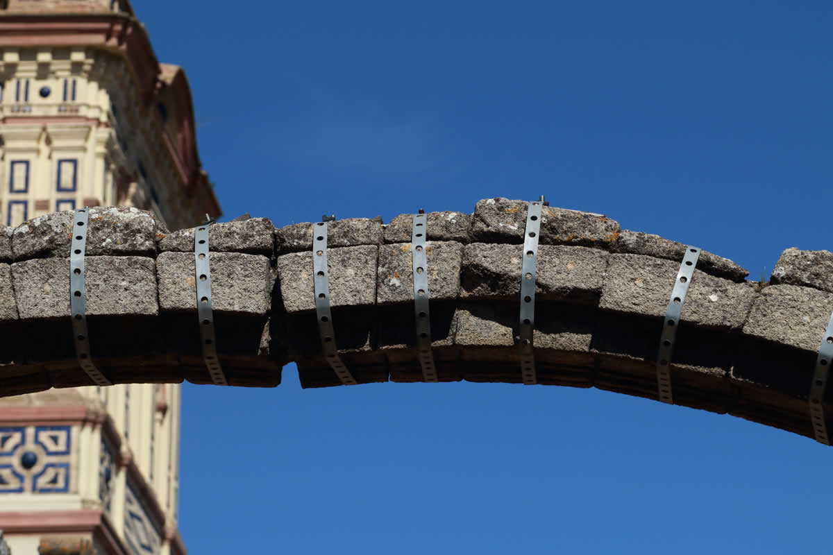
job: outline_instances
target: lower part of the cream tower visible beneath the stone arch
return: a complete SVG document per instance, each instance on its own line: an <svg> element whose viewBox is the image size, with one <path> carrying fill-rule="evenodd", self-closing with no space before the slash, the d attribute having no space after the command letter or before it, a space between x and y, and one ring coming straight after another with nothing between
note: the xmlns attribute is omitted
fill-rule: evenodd
<svg viewBox="0 0 833 555"><path fill-rule="evenodd" d="M0 524L12 553L38 553L43 538L61 536L88 538L97 553L184 553L180 389L91 386L2 399Z"/></svg>

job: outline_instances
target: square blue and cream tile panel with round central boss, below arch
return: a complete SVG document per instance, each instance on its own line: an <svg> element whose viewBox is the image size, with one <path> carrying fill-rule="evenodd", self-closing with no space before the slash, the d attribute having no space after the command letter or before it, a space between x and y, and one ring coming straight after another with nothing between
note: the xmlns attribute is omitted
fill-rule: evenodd
<svg viewBox="0 0 833 555"><path fill-rule="evenodd" d="M67 493L70 426L0 428L0 493Z"/></svg>

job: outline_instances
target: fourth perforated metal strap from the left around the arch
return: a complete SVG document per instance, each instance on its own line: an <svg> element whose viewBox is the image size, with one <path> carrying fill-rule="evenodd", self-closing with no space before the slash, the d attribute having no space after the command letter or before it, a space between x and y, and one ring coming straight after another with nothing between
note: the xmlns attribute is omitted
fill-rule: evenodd
<svg viewBox="0 0 833 555"><path fill-rule="evenodd" d="M411 261L414 276L414 314L416 315L416 349L422 379L436 382L436 366L431 353L431 312L428 310L428 221L425 214L414 214L411 226Z"/></svg>

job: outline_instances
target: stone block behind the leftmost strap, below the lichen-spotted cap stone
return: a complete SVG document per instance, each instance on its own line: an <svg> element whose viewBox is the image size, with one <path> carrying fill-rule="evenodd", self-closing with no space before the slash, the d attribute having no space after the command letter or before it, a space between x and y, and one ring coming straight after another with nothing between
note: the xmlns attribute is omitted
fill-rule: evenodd
<svg viewBox="0 0 833 555"><path fill-rule="evenodd" d="M20 229L20 228L18 228ZM87 315L157 315L156 263L142 256L87 256ZM69 320L69 259L12 264L22 320Z"/></svg>

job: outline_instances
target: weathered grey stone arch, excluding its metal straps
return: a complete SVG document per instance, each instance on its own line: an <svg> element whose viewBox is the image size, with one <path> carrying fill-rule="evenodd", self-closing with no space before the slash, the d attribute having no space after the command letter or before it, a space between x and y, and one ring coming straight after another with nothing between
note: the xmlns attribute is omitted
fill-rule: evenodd
<svg viewBox="0 0 833 555"><path fill-rule="evenodd" d="M521 382L524 201L427 215L431 344L439 381ZM0 395L90 385L70 321L72 212L0 233ZM412 216L328 224L338 353L359 384L422 381ZM302 386L342 384L322 356L311 223L211 226L217 353L228 384L272 387L297 363ZM92 208L85 298L92 359L112 383L210 384L197 324L194 230L152 214ZM537 383L658 399L656 354L686 245L605 216L545 206L537 260ZM702 251L671 360L675 404L814 437L816 355L833 311L833 254L786 250L771 283ZM825 414L831 399L825 398ZM828 426L829 426L828 422Z"/></svg>

